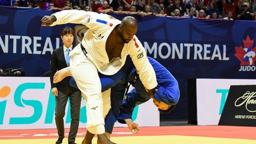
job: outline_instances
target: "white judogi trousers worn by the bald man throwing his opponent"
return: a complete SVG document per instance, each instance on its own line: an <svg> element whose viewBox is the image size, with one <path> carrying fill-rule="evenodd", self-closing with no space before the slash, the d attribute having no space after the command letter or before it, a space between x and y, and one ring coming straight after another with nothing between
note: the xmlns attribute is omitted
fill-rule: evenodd
<svg viewBox="0 0 256 144"><path fill-rule="evenodd" d="M76 49L79 47L80 44L76 46ZM105 133L104 118L111 108L111 89L101 93L97 68L82 51L71 55L70 68L72 76L87 102L87 130L93 134Z"/></svg>

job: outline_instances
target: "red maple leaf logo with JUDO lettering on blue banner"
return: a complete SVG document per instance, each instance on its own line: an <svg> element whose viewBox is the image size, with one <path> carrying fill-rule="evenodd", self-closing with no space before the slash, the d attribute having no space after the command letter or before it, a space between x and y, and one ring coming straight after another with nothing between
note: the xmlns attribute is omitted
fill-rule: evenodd
<svg viewBox="0 0 256 144"><path fill-rule="evenodd" d="M243 40L244 47L235 47L235 56L240 60L239 71L255 71L256 60L256 46L254 46L254 40L251 40L247 36L246 40Z"/></svg>

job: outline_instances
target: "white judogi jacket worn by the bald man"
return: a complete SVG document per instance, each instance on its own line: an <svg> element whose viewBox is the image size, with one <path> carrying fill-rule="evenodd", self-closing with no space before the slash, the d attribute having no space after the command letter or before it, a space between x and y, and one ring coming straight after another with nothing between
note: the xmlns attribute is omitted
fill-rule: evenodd
<svg viewBox="0 0 256 144"><path fill-rule="evenodd" d="M109 62L105 44L111 31L121 23L120 20L107 14L82 10L65 10L53 15L57 21L50 26L73 23L83 24L89 28L81 43L87 51L87 57L92 60L99 72L104 75L114 75L124 65L126 56L130 55L143 85L148 89L156 87L155 71L146 57L144 47L136 36L129 43L124 44L121 57L115 57ZM115 38L113 37L113 39ZM81 52L81 49L73 49L70 55L76 52Z"/></svg>

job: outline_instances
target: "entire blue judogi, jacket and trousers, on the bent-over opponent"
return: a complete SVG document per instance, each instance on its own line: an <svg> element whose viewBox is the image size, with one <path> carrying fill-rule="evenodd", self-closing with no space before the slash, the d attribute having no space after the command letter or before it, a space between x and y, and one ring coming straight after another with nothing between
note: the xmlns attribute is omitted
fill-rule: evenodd
<svg viewBox="0 0 256 144"><path fill-rule="evenodd" d="M156 86L157 91L153 97L165 104L177 104L180 98L180 89L178 88L177 80L155 59L151 57L148 57L148 59L155 70L156 81L158 82ZM111 109L105 117L105 132L112 133L114 123L117 119L120 123L125 123L124 119L132 119L132 112L136 105L145 103L151 97L143 87L129 56L127 56L123 68L115 75L109 76L99 73L99 76L101 90L105 91L111 88ZM124 97L128 82L133 85L134 89ZM77 88L73 78L70 84Z"/></svg>

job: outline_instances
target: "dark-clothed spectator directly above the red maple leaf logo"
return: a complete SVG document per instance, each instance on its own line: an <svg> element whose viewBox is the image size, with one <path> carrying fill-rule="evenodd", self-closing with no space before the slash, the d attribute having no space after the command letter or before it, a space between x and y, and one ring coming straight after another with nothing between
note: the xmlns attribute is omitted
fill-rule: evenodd
<svg viewBox="0 0 256 144"><path fill-rule="evenodd" d="M249 20L252 21L254 19L254 13L248 9L249 5L247 2L241 6L241 10L238 12L237 20Z"/></svg>

